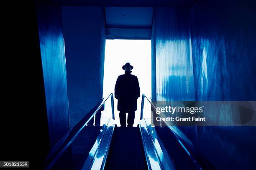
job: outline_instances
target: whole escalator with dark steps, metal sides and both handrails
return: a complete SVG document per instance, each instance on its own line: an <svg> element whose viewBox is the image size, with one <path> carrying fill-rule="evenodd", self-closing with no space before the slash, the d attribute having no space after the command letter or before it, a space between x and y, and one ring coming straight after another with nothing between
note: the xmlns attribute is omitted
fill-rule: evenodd
<svg viewBox="0 0 256 170"><path fill-rule="evenodd" d="M101 117L101 126L89 125L106 101L111 107L105 108L111 110L106 109L105 114L112 113L111 118ZM151 119L143 116L143 111L150 111L143 109L146 104L155 107L142 96L138 127L117 127L113 94L103 98L50 150L43 169L202 170L202 159L187 147L189 143L180 137L177 127L151 126Z"/></svg>

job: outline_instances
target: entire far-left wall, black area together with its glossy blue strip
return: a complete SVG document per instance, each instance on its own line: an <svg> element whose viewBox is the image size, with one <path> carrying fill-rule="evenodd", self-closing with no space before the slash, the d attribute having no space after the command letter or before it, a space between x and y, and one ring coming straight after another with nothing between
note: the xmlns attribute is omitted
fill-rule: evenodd
<svg viewBox="0 0 256 170"><path fill-rule="evenodd" d="M61 88L67 82L60 7L10 3L2 37L0 160L29 161L31 169L40 169L51 146L69 130L67 90Z"/></svg>

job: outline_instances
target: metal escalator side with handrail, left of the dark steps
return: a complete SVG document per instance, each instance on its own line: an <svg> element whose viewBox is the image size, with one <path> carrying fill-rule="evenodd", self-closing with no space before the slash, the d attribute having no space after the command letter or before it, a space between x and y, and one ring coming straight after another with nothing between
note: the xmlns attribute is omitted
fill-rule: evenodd
<svg viewBox="0 0 256 170"><path fill-rule="evenodd" d="M92 148L91 151L93 152L93 149L96 147L95 145L99 145L102 131L105 131L106 126L109 125L110 122L108 121L109 118L104 117L104 119L101 119L102 128L96 125L93 126L93 122L92 125L89 124L95 114L104 105L105 101L110 99L110 96L113 102L113 94L103 98L98 105L87 113L84 118L50 150L45 161L45 169L59 169L63 166L66 167L66 169L74 169L76 166L79 166L76 161L79 161L79 164L81 164L81 162L83 163L85 161L87 156L89 156L88 159L90 159L92 154L89 153L90 149ZM114 112L112 113L114 114ZM87 155L88 153L89 155Z"/></svg>

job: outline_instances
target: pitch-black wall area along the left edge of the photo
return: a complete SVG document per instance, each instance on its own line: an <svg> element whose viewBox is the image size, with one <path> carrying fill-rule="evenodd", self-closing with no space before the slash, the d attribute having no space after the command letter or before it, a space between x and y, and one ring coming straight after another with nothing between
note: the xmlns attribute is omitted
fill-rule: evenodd
<svg viewBox="0 0 256 170"><path fill-rule="evenodd" d="M36 168L50 148L36 5L10 6L2 21L0 160L29 160Z"/></svg>

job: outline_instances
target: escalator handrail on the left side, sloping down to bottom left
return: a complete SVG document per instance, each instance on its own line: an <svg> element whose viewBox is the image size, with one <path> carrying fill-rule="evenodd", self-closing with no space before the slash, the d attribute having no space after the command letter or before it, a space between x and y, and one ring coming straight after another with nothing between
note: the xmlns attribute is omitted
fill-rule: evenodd
<svg viewBox="0 0 256 170"><path fill-rule="evenodd" d="M48 170L56 163L58 158L65 152L65 150L69 147L69 145L74 141L74 139L79 135L79 133L84 129L87 123L94 117L97 111L104 105L105 101L111 97L111 108L112 108L112 118L115 119L114 113L114 98L113 93L107 95L107 97L102 98L102 100L95 105L95 107L88 112L82 120L80 120L77 125L72 128L61 140L59 140L56 145L49 151L46 161L44 163L44 169Z"/></svg>

